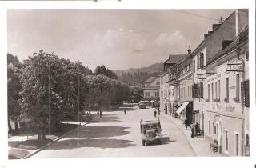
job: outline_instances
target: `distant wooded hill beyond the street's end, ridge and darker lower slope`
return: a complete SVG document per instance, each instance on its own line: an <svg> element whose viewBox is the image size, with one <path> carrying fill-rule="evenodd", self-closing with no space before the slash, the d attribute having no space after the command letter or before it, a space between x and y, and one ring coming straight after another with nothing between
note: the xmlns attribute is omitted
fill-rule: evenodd
<svg viewBox="0 0 256 168"><path fill-rule="evenodd" d="M115 70L114 73L118 75L118 79L122 82L128 83L130 86L143 83L151 76L157 76L163 70L163 63L155 63L151 66L142 68L130 68L128 70Z"/></svg>

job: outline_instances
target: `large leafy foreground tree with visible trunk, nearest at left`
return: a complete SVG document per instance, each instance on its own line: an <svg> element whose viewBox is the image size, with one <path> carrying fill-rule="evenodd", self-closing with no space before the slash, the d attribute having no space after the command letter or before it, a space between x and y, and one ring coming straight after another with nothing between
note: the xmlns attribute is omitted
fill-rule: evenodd
<svg viewBox="0 0 256 168"><path fill-rule="evenodd" d="M29 57L22 69L22 114L34 122L38 140L46 139L46 128L56 128L64 112L76 113L86 98L86 78L79 63L59 59L42 50Z"/></svg>

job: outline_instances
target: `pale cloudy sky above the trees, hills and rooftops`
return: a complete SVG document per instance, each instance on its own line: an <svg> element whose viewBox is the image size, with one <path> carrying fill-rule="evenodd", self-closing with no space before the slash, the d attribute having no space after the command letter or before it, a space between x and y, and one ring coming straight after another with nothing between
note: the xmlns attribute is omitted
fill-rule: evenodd
<svg viewBox="0 0 256 168"><path fill-rule="evenodd" d="M186 54L233 10L8 10L8 52L22 61L39 49L126 70Z"/></svg>

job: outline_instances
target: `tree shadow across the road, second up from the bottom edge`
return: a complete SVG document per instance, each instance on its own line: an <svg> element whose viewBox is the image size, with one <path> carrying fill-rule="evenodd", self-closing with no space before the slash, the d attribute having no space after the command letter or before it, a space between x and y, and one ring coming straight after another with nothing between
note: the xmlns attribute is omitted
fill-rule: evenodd
<svg viewBox="0 0 256 168"><path fill-rule="evenodd" d="M130 133L123 126L82 126L78 134L69 134L65 138L109 138Z"/></svg>

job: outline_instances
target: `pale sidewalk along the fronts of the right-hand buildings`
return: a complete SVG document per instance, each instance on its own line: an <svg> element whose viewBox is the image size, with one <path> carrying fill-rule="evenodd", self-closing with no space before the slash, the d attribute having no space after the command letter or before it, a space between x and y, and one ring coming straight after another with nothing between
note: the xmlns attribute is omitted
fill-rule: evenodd
<svg viewBox="0 0 256 168"><path fill-rule="evenodd" d="M222 157L224 154L218 154L218 152L214 153L214 151L210 150L210 139L204 137L195 137L191 138L191 130L190 127L186 130L186 127L183 126L182 120L178 118L170 117L168 114L162 114L162 117L169 119L171 122L174 122L176 126L180 130L182 130L183 134L185 134L187 141L192 146L195 154L200 157Z"/></svg>

